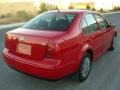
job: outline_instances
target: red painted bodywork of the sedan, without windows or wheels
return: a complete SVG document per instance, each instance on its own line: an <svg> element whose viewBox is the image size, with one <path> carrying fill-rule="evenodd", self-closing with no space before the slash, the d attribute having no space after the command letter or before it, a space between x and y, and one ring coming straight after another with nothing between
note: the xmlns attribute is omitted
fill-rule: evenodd
<svg viewBox="0 0 120 90"><path fill-rule="evenodd" d="M55 11L53 11L55 12ZM77 71L87 50L93 53L93 60L106 51L116 33L109 27L105 31L85 35L82 33L81 23L87 13L91 11L61 11L61 13L75 13L74 19L66 32L42 31L18 28L6 33L3 56L5 62L18 71L48 79L59 79ZM24 37L24 42L20 37ZM19 53L18 44L23 50Z"/></svg>

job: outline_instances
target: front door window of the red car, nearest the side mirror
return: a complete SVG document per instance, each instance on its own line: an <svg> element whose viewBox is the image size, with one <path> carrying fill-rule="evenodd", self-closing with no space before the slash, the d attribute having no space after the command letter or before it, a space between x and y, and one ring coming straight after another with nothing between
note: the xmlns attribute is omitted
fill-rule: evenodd
<svg viewBox="0 0 120 90"><path fill-rule="evenodd" d="M108 22L99 14L94 14L100 29L105 29L109 27Z"/></svg>

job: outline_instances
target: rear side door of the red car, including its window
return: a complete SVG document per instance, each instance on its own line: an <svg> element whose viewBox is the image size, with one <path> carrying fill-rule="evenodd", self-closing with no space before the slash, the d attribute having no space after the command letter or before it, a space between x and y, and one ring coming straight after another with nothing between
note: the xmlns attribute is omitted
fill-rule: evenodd
<svg viewBox="0 0 120 90"><path fill-rule="evenodd" d="M84 25L86 22L87 25ZM87 26L87 27L85 27ZM85 31L86 29L87 32ZM94 54L94 59L99 57L103 52L103 37L101 31L92 13L86 14L83 19L82 31L85 35L85 42L88 43Z"/></svg>

